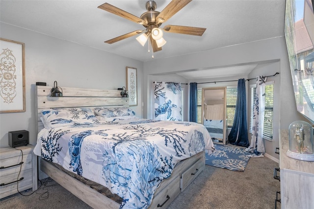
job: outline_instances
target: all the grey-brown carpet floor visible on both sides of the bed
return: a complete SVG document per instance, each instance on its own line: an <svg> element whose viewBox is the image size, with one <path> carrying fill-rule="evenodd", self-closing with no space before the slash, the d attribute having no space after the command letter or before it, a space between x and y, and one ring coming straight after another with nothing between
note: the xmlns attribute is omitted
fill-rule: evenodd
<svg viewBox="0 0 314 209"><path fill-rule="evenodd" d="M169 209L274 209L276 191L280 190L280 182L273 178L275 167L278 163L267 157L251 158L244 172L206 165ZM45 183L30 196L15 194L3 198L0 208L90 209L54 181ZM277 208L280 209L279 203Z"/></svg>

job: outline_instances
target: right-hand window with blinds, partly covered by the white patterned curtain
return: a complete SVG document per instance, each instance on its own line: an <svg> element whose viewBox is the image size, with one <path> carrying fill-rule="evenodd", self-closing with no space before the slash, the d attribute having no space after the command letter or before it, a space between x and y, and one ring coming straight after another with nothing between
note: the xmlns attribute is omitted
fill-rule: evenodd
<svg viewBox="0 0 314 209"><path fill-rule="evenodd" d="M254 100L256 98L256 87L251 88L251 120L250 132L253 126L253 110L255 108ZM263 137L273 138L273 103L274 102L274 84L265 85L265 113L264 113L264 130Z"/></svg>

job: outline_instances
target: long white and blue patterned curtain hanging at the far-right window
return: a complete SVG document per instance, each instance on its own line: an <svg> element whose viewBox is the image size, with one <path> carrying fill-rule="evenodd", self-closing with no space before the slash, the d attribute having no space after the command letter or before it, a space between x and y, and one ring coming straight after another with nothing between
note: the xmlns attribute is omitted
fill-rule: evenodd
<svg viewBox="0 0 314 209"><path fill-rule="evenodd" d="M264 157L265 147L263 142L264 112L265 112L265 82L267 77L258 76L256 78L255 108L253 110L253 127L251 145L246 149L252 152L252 157Z"/></svg>

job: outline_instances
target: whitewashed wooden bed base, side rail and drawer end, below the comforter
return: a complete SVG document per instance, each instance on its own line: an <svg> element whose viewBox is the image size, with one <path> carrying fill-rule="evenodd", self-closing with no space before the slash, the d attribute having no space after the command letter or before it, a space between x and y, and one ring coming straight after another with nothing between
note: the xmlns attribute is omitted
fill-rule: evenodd
<svg viewBox="0 0 314 209"><path fill-rule="evenodd" d="M40 158L40 169L94 209L119 209L120 204ZM180 161L171 177L157 188L150 209L167 208L205 168L205 151Z"/></svg>

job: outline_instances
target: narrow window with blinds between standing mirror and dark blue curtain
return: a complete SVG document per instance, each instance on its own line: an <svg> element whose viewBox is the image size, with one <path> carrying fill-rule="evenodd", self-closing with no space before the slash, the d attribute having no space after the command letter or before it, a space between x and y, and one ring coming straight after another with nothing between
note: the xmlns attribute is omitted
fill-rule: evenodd
<svg viewBox="0 0 314 209"><path fill-rule="evenodd" d="M236 88L227 88L227 125L231 128L235 120Z"/></svg>

